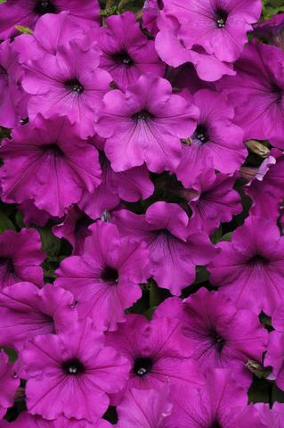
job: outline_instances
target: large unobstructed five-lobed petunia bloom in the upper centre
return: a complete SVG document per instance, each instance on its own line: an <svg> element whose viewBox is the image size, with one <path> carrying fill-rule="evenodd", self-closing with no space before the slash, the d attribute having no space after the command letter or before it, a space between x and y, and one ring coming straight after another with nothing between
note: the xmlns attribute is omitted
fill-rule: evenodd
<svg viewBox="0 0 284 428"><path fill-rule="evenodd" d="M191 136L198 109L164 78L143 75L136 86L110 91L96 119L106 137L105 153L115 171L146 163L153 172L174 170L181 160L181 138Z"/></svg>

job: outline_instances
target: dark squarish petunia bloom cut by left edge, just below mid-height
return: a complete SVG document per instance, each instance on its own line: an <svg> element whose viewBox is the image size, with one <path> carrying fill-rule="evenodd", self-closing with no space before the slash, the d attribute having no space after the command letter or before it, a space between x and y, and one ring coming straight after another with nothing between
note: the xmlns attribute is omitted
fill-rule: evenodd
<svg viewBox="0 0 284 428"><path fill-rule="evenodd" d="M21 229L19 233L6 230L0 234L0 290L8 285L30 281L44 285L40 267L45 260L40 235L35 229Z"/></svg>

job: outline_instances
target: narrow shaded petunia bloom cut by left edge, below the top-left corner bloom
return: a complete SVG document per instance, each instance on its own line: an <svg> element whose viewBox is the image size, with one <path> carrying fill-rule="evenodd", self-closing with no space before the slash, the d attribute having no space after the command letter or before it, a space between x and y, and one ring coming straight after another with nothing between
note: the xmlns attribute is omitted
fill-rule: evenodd
<svg viewBox="0 0 284 428"><path fill-rule="evenodd" d="M9 40L0 44L0 126L5 128L15 127L26 115L22 103L24 93L18 85L20 67L17 55Z"/></svg>

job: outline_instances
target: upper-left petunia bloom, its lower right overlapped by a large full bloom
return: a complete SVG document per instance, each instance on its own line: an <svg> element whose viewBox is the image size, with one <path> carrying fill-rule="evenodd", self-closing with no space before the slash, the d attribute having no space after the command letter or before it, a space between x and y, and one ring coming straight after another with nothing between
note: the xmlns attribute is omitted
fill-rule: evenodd
<svg viewBox="0 0 284 428"><path fill-rule="evenodd" d="M46 54L45 61L28 61L22 86L31 95L29 118L39 112L45 118L67 116L77 124L81 136L93 136L94 111L111 81L110 74L98 68L99 62L98 45L85 38L58 46L56 55Z"/></svg>

